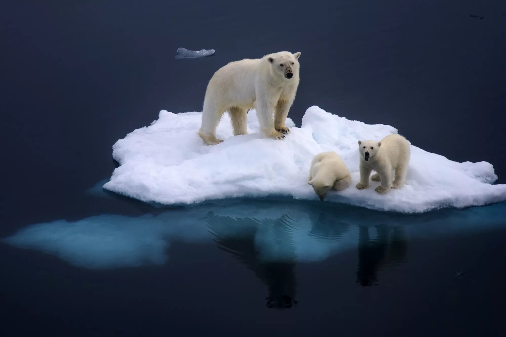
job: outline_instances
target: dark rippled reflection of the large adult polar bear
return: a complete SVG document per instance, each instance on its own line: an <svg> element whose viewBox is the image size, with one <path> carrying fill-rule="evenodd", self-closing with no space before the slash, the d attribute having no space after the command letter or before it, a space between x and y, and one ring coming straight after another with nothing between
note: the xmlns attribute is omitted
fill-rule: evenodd
<svg viewBox="0 0 506 337"><path fill-rule="evenodd" d="M210 212L206 221L218 247L232 254L267 285L268 308L297 306L295 247L286 216L257 221Z"/></svg>

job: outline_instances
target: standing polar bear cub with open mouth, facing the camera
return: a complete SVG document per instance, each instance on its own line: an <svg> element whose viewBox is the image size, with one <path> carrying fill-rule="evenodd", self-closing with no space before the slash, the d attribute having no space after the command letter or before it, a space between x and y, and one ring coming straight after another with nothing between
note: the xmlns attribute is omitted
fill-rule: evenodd
<svg viewBox="0 0 506 337"><path fill-rule="evenodd" d="M381 181L381 185L375 191L379 194L387 194L390 188L401 188L406 182L406 174L409 164L409 142L400 135L388 135L380 142L371 140L358 141L360 153L360 182L359 190L369 187L371 171L372 181ZM392 170L395 170L395 179L392 183Z"/></svg>

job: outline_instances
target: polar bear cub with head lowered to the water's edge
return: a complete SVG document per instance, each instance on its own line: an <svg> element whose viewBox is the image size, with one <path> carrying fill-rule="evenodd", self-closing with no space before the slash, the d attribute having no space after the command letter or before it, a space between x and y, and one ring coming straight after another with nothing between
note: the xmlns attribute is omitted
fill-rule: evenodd
<svg viewBox="0 0 506 337"><path fill-rule="evenodd" d="M351 184L348 167L335 152L322 152L313 157L309 169L308 184L323 201L328 190L342 191Z"/></svg>

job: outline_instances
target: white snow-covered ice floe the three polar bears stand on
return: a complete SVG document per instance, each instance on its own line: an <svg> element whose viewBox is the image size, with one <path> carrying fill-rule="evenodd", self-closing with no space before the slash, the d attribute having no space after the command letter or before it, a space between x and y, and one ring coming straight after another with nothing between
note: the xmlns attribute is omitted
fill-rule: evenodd
<svg viewBox="0 0 506 337"><path fill-rule="evenodd" d="M307 183L311 159L335 151L352 174L352 185L329 192L324 202L341 202L377 210L421 213L442 207L479 206L506 200L506 185L485 161L455 162L411 145L406 185L386 195L357 190L358 140L381 140L397 133L389 125L369 125L310 107L284 140L262 138L256 112L247 115L249 135L232 137L227 114L218 126L225 142L205 145L197 135L201 113L160 111L158 120L118 140L113 157L120 163L104 188L145 202L190 204L233 197L291 196L318 200ZM408 135L407 135L408 136ZM407 137L409 140L409 136Z"/></svg>

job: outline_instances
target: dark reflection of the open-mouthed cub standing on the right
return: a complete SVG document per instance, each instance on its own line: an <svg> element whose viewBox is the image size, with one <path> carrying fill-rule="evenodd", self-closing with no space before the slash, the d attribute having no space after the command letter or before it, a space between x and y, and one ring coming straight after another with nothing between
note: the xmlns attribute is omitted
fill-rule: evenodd
<svg viewBox="0 0 506 337"><path fill-rule="evenodd" d="M406 238L401 226L375 226L371 239L366 226L359 226L357 282L362 286L377 285L377 272L385 265L402 263L406 256Z"/></svg>

